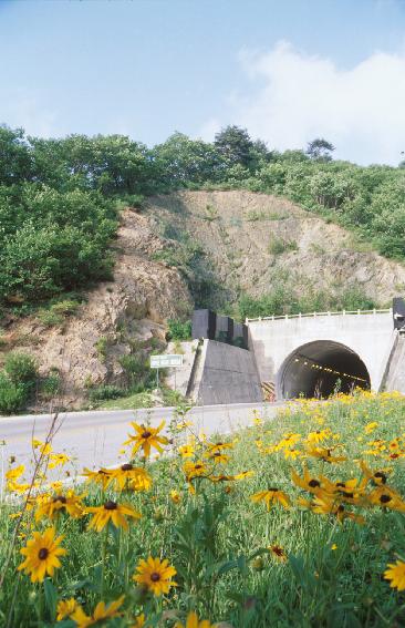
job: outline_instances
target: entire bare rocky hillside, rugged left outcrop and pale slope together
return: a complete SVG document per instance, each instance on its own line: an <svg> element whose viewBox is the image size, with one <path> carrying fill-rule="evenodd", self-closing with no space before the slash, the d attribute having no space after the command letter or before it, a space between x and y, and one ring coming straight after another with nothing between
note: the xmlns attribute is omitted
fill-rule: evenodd
<svg viewBox="0 0 405 628"><path fill-rule="evenodd" d="M302 294L360 288L384 305L405 287L403 265L288 200L247 192L152 197L141 212L123 212L114 249L113 280L73 316L3 323L0 362L11 350L35 356L42 374L60 373L69 408L94 387L127 387L128 369L136 380L137 361L165 350L167 319L189 317L194 299L229 309L241 294L260 297L282 282ZM45 405L40 398L37 409Z"/></svg>

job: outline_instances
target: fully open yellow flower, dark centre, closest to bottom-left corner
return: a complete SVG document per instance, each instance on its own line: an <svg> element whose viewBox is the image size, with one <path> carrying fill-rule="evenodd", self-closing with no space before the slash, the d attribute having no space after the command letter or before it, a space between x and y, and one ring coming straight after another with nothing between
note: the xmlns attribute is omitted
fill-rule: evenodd
<svg viewBox="0 0 405 628"><path fill-rule="evenodd" d="M32 583L42 583L46 574L52 577L54 570L61 567L59 556L66 554L66 549L60 547L62 539L63 536L55 538L53 527L49 527L43 534L34 532L33 538L20 549L25 560L19 565L18 570L24 569L27 575L31 575Z"/></svg>

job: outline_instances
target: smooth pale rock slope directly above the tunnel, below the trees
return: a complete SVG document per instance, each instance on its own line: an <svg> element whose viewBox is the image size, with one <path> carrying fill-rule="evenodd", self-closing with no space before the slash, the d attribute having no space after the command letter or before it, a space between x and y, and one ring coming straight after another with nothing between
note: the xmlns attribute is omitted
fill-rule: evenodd
<svg viewBox="0 0 405 628"><path fill-rule="evenodd" d="M357 286L381 305L405 291L404 265L365 249L352 234L280 197L180 192L152 198L149 214L187 229L202 244L230 298L237 287L253 297L263 295L283 276L303 291ZM285 249L274 253L274 240Z"/></svg>

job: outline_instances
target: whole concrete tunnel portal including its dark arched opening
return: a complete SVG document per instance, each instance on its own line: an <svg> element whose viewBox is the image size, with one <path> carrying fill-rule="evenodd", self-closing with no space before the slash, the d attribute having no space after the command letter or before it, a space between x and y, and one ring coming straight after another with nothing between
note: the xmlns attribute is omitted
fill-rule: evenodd
<svg viewBox="0 0 405 628"><path fill-rule="evenodd" d="M260 381L274 385L278 400L328 397L338 377L344 392L353 384L378 391L395 336L392 317L386 310L249 320Z"/></svg>

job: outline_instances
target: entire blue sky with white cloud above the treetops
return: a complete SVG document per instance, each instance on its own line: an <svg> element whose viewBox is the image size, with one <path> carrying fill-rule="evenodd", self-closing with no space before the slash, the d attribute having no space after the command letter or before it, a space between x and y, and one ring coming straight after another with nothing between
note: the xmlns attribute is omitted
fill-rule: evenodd
<svg viewBox="0 0 405 628"><path fill-rule="evenodd" d="M0 123L30 135L237 124L395 165L404 112L405 0L0 0Z"/></svg>

